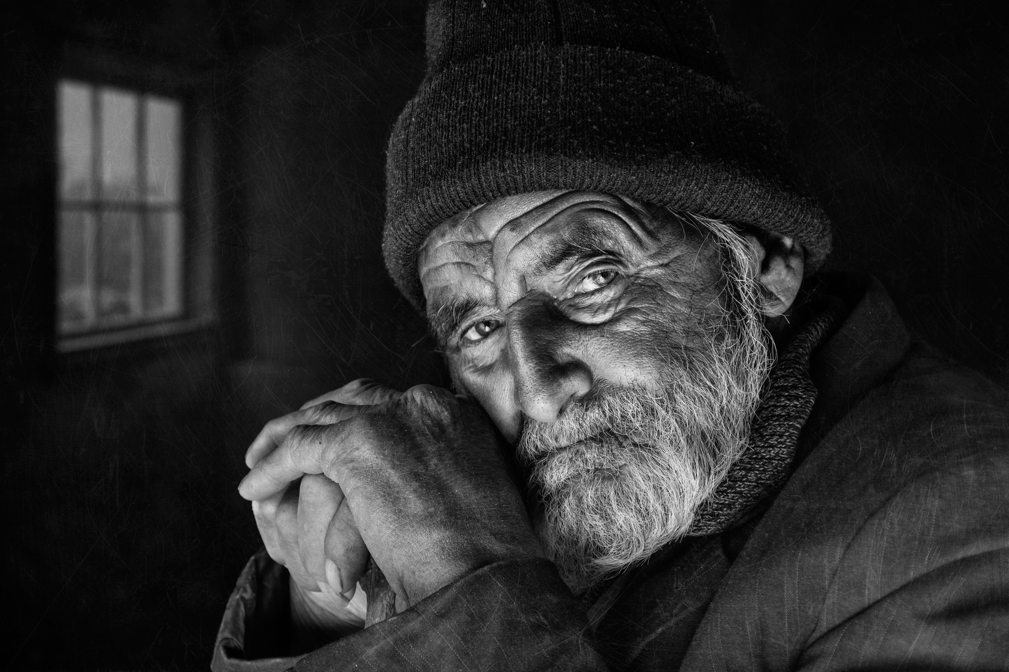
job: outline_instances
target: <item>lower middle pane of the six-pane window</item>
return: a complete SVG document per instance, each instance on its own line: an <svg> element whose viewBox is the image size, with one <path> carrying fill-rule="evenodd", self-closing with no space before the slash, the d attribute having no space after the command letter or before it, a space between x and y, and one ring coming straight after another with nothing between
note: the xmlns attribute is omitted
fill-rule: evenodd
<svg viewBox="0 0 1009 672"><path fill-rule="evenodd" d="M98 312L107 323L140 316L139 218L132 211L106 211L99 229Z"/></svg>

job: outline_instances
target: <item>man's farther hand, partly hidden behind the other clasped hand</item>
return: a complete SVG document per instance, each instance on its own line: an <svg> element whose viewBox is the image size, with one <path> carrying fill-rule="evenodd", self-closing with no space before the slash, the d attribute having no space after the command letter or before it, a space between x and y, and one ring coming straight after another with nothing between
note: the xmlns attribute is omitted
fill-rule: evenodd
<svg viewBox="0 0 1009 672"><path fill-rule="evenodd" d="M282 444L299 425L332 424L353 416L367 404L402 394L374 381L359 379L305 403L299 411L271 420L245 453L251 468ZM288 567L297 591L292 598L309 620L320 615L356 625L363 619L363 595L353 598L368 553L356 528L347 524L349 510L339 486L322 475L310 475L269 497L254 500L252 513L269 556ZM342 594L341 594L342 593ZM346 612L349 610L350 614ZM358 618L359 617L359 618ZM319 619L315 619L319 620ZM331 626L341 625L332 623Z"/></svg>

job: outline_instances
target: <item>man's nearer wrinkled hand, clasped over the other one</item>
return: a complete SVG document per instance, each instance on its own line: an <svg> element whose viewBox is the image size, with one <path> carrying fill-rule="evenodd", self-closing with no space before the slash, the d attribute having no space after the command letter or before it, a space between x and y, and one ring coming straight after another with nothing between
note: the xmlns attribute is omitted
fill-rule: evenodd
<svg viewBox="0 0 1009 672"><path fill-rule="evenodd" d="M274 432L279 447L255 463L240 494L261 502L283 498L302 478L301 499L312 503L299 504L301 510L326 499L307 493L306 483L320 492L338 489L343 499L326 532L326 559L339 567L330 555L334 525L341 539L359 534L400 611L490 562L542 555L506 468L508 448L483 410L429 385L390 397L330 424L287 427L283 439ZM319 486L317 475L332 485ZM306 571L326 575L326 559L308 558Z"/></svg>

